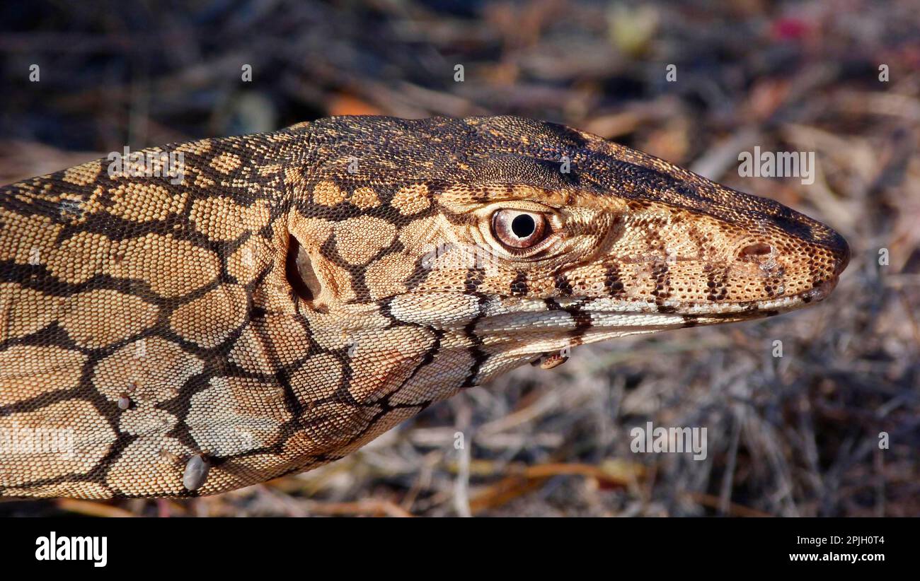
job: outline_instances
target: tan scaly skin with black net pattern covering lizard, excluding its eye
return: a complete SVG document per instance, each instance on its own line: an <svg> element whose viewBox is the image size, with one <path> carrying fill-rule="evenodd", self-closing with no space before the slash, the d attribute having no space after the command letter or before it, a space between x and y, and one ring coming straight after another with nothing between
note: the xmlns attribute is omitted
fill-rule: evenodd
<svg viewBox="0 0 920 581"><path fill-rule="evenodd" d="M849 253L775 201L533 120L339 117L148 151L181 152L182 182L100 160L0 194L0 434L72 437L0 441L0 494L309 470L547 353L819 301Z"/></svg>

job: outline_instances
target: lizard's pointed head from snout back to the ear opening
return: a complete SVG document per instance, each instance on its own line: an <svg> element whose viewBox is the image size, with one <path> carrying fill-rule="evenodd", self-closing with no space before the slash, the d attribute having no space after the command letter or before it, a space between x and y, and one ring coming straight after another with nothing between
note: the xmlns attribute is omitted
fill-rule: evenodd
<svg viewBox="0 0 920 581"><path fill-rule="evenodd" d="M436 329L475 350L474 382L573 345L821 301L849 258L774 200L565 126L323 122L292 230L312 240L316 304Z"/></svg>

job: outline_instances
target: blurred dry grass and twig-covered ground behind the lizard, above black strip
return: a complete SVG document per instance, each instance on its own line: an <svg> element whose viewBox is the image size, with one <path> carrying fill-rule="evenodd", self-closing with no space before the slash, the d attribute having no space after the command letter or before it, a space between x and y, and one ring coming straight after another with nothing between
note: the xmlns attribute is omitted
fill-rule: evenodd
<svg viewBox="0 0 920 581"><path fill-rule="evenodd" d="M4 184L328 115L514 114L777 199L853 250L811 309L579 347L314 472L0 515L920 516L915 0L14 0L0 77ZM814 183L740 177L754 146L814 152ZM632 452L649 421L707 427L706 460Z"/></svg>

